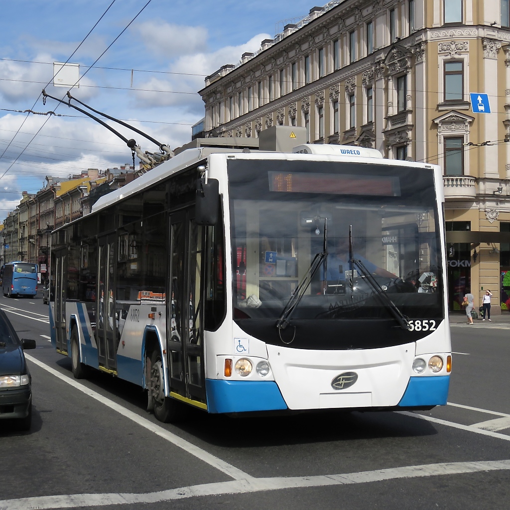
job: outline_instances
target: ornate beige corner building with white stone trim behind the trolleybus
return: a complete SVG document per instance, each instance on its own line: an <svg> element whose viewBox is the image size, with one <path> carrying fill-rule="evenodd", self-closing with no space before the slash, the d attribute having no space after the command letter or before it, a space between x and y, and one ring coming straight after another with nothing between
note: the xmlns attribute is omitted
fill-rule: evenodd
<svg viewBox="0 0 510 510"><path fill-rule="evenodd" d="M450 310L461 310L469 287L477 304L489 288L493 312L506 310L508 4L337 0L314 7L257 53L206 78L205 134L258 137L273 124L305 126L310 143L374 147L390 159L439 164ZM491 113L473 113L470 93L488 94Z"/></svg>

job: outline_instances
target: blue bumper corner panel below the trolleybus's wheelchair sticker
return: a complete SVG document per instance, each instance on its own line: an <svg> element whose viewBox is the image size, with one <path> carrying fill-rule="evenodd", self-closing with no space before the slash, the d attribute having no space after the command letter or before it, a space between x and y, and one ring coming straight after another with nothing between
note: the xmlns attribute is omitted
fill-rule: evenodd
<svg viewBox="0 0 510 510"><path fill-rule="evenodd" d="M274 381L229 381L206 379L210 413L246 413L287 409Z"/></svg>

